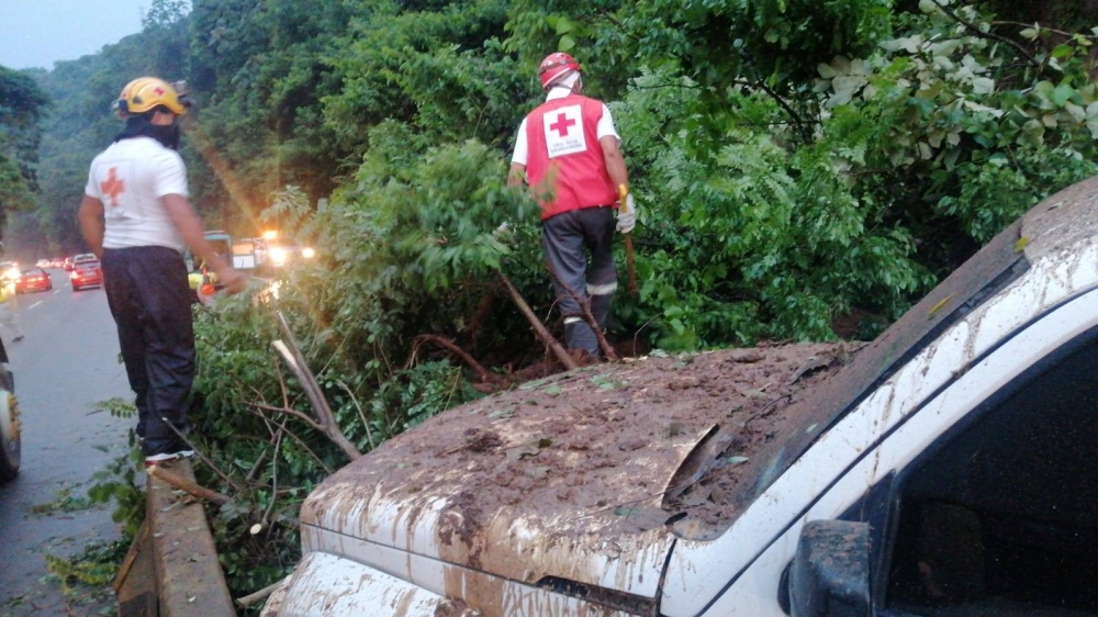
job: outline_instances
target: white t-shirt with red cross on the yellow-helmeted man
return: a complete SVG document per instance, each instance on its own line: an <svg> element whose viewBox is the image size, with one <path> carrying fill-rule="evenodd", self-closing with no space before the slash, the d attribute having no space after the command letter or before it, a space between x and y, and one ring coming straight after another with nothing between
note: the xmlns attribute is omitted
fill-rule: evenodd
<svg viewBox="0 0 1098 617"><path fill-rule="evenodd" d="M187 167L176 150L152 137L115 142L91 161L83 192L103 202L103 248L183 250L183 238L160 202L164 195L189 194Z"/></svg>

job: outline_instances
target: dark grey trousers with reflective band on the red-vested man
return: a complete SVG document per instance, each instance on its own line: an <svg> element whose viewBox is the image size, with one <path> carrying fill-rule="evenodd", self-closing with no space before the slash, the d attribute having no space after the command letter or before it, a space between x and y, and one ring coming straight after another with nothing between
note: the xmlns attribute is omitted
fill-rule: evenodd
<svg viewBox="0 0 1098 617"><path fill-rule="evenodd" d="M598 339L580 305L590 303L598 327L606 327L610 299L617 290L615 225L614 209L597 206L562 212L546 218L541 226L541 244L557 291L557 306L564 316L564 344L595 358L600 354Z"/></svg>

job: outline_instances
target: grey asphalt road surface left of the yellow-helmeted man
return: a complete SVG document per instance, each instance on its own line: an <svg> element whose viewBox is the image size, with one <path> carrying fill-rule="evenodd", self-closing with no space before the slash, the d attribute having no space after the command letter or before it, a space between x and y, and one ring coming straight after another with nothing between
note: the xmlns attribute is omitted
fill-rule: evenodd
<svg viewBox="0 0 1098 617"><path fill-rule="evenodd" d="M63 270L49 272L53 291L18 298L25 338L12 343L11 329L0 327L23 422L20 474L0 485L3 617L109 610L101 590L77 588L66 596L56 577L47 576L46 556L71 557L121 537L109 507L55 507L66 495L65 503L79 505L92 474L128 450L134 420L93 413L97 402L133 397L103 290L74 292Z"/></svg>

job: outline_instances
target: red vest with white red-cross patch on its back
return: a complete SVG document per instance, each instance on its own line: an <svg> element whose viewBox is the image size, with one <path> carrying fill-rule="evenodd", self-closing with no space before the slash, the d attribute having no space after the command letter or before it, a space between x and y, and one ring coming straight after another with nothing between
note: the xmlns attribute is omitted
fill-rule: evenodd
<svg viewBox="0 0 1098 617"><path fill-rule="evenodd" d="M602 116L600 101L579 94L547 101L526 116L526 176L541 204L542 221L617 202L598 144Z"/></svg>

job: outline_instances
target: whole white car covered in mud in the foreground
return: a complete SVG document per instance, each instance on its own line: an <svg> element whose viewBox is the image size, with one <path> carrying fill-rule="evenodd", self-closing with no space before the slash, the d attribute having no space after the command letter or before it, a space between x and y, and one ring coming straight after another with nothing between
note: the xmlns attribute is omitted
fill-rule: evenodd
<svg viewBox="0 0 1098 617"><path fill-rule="evenodd" d="M310 496L265 615L1098 612L1098 179L824 378L690 372L712 358L660 389L572 373L391 440ZM581 382L604 399L574 408ZM707 425L691 389L758 403Z"/></svg>

